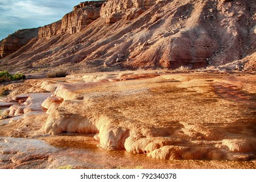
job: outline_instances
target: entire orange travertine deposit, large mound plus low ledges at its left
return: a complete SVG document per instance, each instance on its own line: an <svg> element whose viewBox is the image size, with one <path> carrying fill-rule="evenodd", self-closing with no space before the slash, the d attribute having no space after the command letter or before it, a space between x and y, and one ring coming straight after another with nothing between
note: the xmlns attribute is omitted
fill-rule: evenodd
<svg viewBox="0 0 256 182"><path fill-rule="evenodd" d="M56 90L3 100L16 104L3 112L11 118L0 133L86 133L101 148L155 159L251 160L256 157L254 83L254 75L150 71L32 80L24 88Z"/></svg>

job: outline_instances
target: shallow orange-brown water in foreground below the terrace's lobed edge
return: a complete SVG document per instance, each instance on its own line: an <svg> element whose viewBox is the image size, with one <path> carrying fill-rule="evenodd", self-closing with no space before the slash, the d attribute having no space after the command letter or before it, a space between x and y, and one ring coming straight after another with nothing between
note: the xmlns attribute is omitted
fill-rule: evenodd
<svg viewBox="0 0 256 182"><path fill-rule="evenodd" d="M0 168L256 168L256 161L164 161L126 151L106 151L97 142L69 147L67 136L56 144L31 138L0 138ZM71 137L71 136L68 136ZM82 137L93 141L91 136ZM54 139L56 140L56 139ZM82 141L82 140L81 140ZM71 142L71 140L70 140ZM53 144L53 145L54 145ZM66 144L66 146L61 146Z"/></svg>

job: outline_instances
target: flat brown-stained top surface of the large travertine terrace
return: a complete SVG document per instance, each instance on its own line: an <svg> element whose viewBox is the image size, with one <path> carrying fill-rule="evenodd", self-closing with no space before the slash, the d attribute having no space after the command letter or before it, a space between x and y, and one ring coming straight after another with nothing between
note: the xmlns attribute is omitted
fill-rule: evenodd
<svg viewBox="0 0 256 182"><path fill-rule="evenodd" d="M152 128L153 136L178 137L180 131L193 140L221 140L229 132L255 136L255 91L246 92L227 83L229 79L240 77L170 74L104 83L76 93L97 103L92 110Z"/></svg>

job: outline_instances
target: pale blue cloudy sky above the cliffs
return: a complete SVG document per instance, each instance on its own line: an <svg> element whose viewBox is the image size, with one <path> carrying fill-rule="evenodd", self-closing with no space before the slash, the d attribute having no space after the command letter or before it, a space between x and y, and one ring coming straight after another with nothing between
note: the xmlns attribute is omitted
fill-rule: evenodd
<svg viewBox="0 0 256 182"><path fill-rule="evenodd" d="M0 40L19 29L53 23L81 1L86 0L0 0Z"/></svg>

